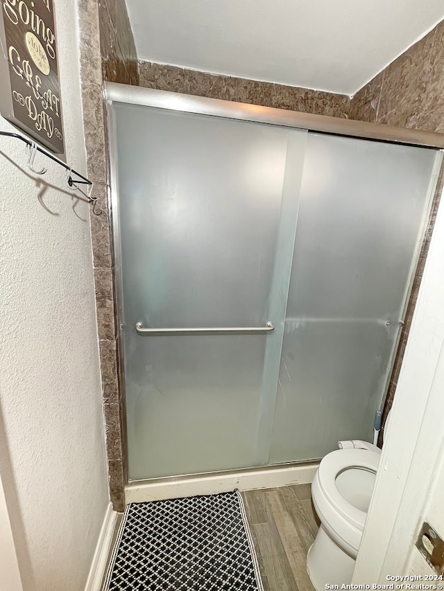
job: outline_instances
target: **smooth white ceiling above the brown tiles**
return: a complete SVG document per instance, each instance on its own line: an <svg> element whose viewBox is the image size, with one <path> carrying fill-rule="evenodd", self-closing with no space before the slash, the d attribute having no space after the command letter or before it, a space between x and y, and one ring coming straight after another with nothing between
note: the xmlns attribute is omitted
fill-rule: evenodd
<svg viewBox="0 0 444 591"><path fill-rule="evenodd" d="M444 0L126 0L140 60L352 95Z"/></svg>

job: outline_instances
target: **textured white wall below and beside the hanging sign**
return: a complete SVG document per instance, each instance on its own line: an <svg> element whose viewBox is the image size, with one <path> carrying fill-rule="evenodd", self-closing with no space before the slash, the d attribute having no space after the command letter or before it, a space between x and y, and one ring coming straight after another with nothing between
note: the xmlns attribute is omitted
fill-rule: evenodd
<svg viewBox="0 0 444 591"><path fill-rule="evenodd" d="M84 172L75 3L54 3L67 161ZM48 187L0 137L0 473L24 589L80 591L108 505L88 206L40 163Z"/></svg>

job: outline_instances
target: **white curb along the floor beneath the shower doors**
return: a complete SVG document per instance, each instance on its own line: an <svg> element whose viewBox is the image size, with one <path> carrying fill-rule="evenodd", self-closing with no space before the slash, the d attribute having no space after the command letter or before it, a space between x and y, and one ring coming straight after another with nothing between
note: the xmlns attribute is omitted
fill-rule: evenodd
<svg viewBox="0 0 444 591"><path fill-rule="evenodd" d="M237 488L251 491L255 488L274 488L291 484L309 484L316 473L319 462L238 470L196 477L164 478L131 482L125 487L125 502L141 503L228 493Z"/></svg>

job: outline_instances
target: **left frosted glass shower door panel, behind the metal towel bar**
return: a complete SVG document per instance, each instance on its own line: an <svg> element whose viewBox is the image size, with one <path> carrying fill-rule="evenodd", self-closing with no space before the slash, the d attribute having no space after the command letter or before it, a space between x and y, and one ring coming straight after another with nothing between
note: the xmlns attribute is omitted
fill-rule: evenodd
<svg viewBox="0 0 444 591"><path fill-rule="evenodd" d="M114 120L130 479L254 466L266 342L278 367L282 331L142 337L134 327L274 320L287 145L304 146L307 132L126 104Z"/></svg>

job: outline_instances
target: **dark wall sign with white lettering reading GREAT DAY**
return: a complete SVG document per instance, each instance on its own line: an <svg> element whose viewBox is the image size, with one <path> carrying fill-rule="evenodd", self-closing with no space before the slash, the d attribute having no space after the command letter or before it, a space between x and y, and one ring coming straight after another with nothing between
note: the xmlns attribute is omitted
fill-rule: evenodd
<svg viewBox="0 0 444 591"><path fill-rule="evenodd" d="M61 154L62 107L53 0L0 0L0 111Z"/></svg>

